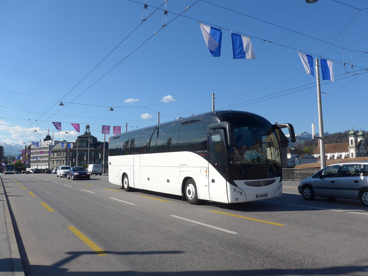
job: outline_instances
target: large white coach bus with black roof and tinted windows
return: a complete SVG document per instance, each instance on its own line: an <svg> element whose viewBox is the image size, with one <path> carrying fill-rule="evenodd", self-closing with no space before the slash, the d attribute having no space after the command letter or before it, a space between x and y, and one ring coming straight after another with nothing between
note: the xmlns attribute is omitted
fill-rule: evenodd
<svg viewBox="0 0 368 276"><path fill-rule="evenodd" d="M109 138L109 181L220 203L280 197L282 167L276 130L243 111L213 111Z"/></svg>

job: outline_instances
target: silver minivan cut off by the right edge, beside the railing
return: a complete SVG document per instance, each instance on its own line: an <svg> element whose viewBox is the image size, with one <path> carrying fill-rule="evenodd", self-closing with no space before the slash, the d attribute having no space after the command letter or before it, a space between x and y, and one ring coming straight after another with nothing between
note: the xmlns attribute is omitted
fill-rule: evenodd
<svg viewBox="0 0 368 276"><path fill-rule="evenodd" d="M368 162L330 165L300 182L298 192L306 200L314 197L360 199L368 207Z"/></svg>

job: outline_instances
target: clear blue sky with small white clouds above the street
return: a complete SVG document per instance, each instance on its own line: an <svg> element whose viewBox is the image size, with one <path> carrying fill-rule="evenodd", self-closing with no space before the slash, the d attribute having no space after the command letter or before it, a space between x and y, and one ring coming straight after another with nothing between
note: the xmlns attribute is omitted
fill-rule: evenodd
<svg viewBox="0 0 368 276"><path fill-rule="evenodd" d="M125 131L156 124L158 112L160 123L209 112L212 93L216 110L253 112L296 133L315 123L318 132L315 78L296 50L334 61L335 82L321 81L324 131L368 130L366 1L147 0L147 15L144 3L1 2L0 141L28 144L48 129L73 141L87 123L103 141L102 125ZM222 28L220 57L199 21ZM256 60L233 59L230 30L252 38Z"/></svg>

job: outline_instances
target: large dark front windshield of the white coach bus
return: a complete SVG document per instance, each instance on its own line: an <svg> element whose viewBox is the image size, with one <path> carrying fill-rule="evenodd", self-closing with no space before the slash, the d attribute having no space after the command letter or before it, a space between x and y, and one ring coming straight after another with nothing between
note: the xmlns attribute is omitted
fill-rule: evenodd
<svg viewBox="0 0 368 276"><path fill-rule="evenodd" d="M233 180L281 176L279 145L268 125L234 125L235 146L229 147L228 173Z"/></svg>

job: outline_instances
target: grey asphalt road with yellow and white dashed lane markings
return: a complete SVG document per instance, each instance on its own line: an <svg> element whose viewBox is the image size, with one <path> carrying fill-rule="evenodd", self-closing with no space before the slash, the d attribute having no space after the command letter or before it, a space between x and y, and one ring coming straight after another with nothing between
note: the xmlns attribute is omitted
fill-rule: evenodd
<svg viewBox="0 0 368 276"><path fill-rule="evenodd" d="M1 176L26 275L364 275L368 209L283 196L190 205L107 176Z"/></svg>

